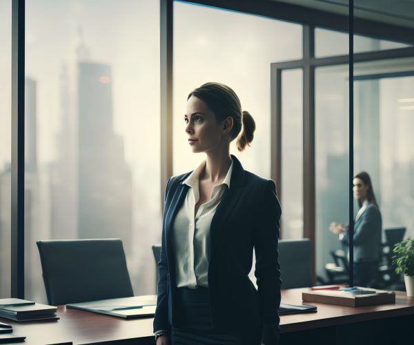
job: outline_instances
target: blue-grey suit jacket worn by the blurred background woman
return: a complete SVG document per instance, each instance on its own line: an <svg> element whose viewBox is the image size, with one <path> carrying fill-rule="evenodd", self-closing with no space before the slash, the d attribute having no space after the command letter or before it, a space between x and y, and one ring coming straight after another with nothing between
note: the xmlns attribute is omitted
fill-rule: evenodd
<svg viewBox="0 0 414 345"><path fill-rule="evenodd" d="M368 204L361 217L354 224L354 262L380 259L382 219L380 210L375 204ZM348 231L342 243L349 244Z"/></svg>

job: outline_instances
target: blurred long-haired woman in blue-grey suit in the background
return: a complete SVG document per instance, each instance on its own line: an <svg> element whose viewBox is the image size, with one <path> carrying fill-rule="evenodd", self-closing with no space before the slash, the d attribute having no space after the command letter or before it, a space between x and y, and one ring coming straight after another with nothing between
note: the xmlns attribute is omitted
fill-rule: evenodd
<svg viewBox="0 0 414 345"><path fill-rule="evenodd" d="M354 285L371 286L377 277L380 260L382 218L375 200L371 177L368 172L359 172L353 179L353 193L358 200L359 210L354 221ZM339 240L348 245L348 227L336 222L329 230L339 235Z"/></svg>

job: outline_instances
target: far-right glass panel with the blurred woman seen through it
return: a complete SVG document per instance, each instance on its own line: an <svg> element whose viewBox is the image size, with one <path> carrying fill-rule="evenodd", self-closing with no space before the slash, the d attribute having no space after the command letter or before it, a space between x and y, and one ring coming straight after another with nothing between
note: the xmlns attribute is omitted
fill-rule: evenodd
<svg viewBox="0 0 414 345"><path fill-rule="evenodd" d="M362 6L362 1L356 0L355 6ZM375 21L395 26L396 40L400 35L399 41L412 41L406 32L414 28L414 8L408 3L377 3L371 8L364 2L364 6L377 13ZM412 46L391 45L400 48L399 56L392 51L386 57L373 54L354 65L354 172L359 177L354 179L356 285L404 290L392 264L392 249L396 242L414 236ZM360 172L367 172L371 181L357 175Z"/></svg>

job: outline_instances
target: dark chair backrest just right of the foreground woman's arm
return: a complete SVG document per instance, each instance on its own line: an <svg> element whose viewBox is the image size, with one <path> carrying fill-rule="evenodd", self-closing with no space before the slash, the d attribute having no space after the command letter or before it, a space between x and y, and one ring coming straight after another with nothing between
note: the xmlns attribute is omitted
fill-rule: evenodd
<svg viewBox="0 0 414 345"><path fill-rule="evenodd" d="M279 263L282 288L313 286L311 273L311 240L280 239Z"/></svg>

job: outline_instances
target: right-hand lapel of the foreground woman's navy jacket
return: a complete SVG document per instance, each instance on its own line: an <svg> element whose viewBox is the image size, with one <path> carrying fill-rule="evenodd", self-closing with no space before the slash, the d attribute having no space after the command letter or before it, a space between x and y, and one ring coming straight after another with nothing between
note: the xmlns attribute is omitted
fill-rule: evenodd
<svg viewBox="0 0 414 345"><path fill-rule="evenodd" d="M221 197L220 204L211 220L209 257L214 253L217 246L219 246L221 237L226 233L226 229L228 228L228 225L226 225L227 220L243 191L244 169L235 156L232 155L231 157L233 158L233 172L230 179L230 188Z"/></svg>

